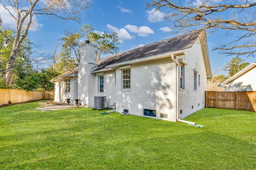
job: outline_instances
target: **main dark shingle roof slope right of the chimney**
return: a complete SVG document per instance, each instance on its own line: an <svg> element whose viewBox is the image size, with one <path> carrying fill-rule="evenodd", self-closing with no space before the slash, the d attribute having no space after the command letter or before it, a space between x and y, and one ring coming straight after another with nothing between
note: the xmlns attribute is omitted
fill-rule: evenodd
<svg viewBox="0 0 256 170"><path fill-rule="evenodd" d="M105 66L111 64L123 63L127 61L133 61L137 59L143 59L146 57L160 55L168 52L188 49L192 47L192 45L199 37L199 35L200 33L196 32L186 33L178 35L176 37L164 39L156 43L151 43L148 45L144 45L142 47L124 51L122 53L104 57L96 61L96 63L98 64L98 68L96 70L101 70L105 68Z"/></svg>

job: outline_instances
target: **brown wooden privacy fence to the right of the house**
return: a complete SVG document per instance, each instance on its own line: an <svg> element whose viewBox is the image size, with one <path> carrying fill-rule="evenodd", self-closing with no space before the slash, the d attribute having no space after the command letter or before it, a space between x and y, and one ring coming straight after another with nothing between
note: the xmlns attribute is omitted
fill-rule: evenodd
<svg viewBox="0 0 256 170"><path fill-rule="evenodd" d="M206 91L205 107L256 111L256 91Z"/></svg>

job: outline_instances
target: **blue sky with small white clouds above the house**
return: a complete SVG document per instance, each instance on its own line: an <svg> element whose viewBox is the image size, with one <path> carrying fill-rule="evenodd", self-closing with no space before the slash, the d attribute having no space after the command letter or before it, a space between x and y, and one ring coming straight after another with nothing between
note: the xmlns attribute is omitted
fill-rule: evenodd
<svg viewBox="0 0 256 170"><path fill-rule="evenodd" d="M1 1L2 2L2 1ZM93 0L91 9L87 10L88 15L81 16L81 22L61 21L37 16L34 18L37 28L31 29L29 36L32 42L40 45L40 51L52 54L55 48L54 43L64 35L64 31L78 32L82 24L90 23L96 31L108 31L118 33L120 39L119 51L126 51L141 45L147 45L174 35L170 34L172 25L164 21L152 9L146 9L145 3L148 0ZM10 16L1 8L3 25L15 28L15 23ZM211 51L225 37L221 33L208 35L208 49L212 72L219 70L218 74L225 74L222 68L232 58L218 55L218 51ZM255 58L243 58L245 62L256 62ZM47 65L45 66L47 67Z"/></svg>

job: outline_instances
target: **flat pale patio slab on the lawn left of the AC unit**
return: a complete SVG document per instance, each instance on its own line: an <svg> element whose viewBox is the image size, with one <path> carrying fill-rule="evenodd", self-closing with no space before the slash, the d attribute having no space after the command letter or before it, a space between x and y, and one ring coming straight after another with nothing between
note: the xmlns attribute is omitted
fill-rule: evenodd
<svg viewBox="0 0 256 170"><path fill-rule="evenodd" d="M48 104L46 102L39 102L38 104L42 105L40 107L35 107L41 111L53 111L53 110L63 110L63 109L74 109L74 108L81 108L83 106L74 106L74 105L53 105Z"/></svg>

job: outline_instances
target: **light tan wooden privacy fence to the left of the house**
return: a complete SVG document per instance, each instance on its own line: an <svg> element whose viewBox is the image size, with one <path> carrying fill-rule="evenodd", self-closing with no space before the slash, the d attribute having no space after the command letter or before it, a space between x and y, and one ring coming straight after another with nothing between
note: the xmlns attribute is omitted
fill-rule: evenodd
<svg viewBox="0 0 256 170"><path fill-rule="evenodd" d="M54 100L54 91L26 91L19 89L0 89L0 105L27 102L32 100Z"/></svg>

